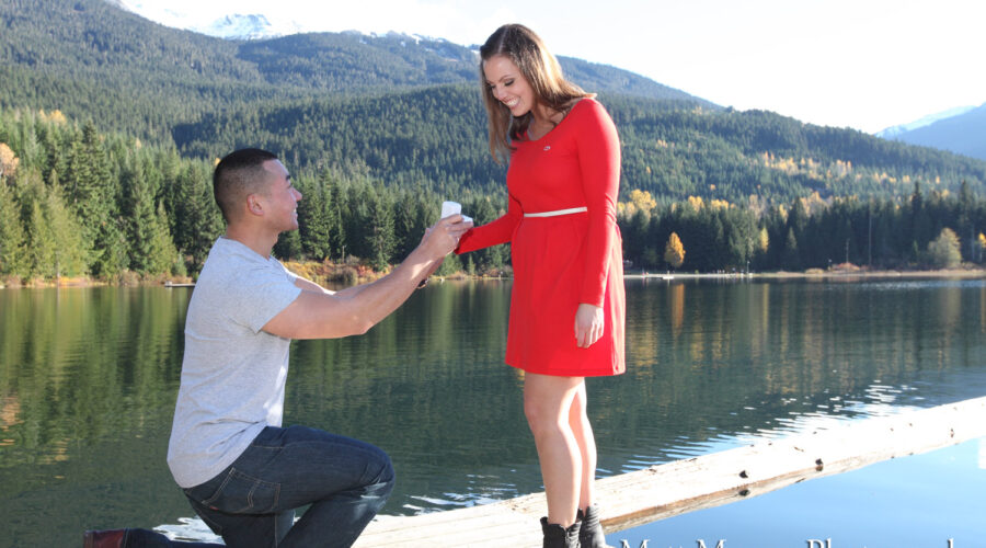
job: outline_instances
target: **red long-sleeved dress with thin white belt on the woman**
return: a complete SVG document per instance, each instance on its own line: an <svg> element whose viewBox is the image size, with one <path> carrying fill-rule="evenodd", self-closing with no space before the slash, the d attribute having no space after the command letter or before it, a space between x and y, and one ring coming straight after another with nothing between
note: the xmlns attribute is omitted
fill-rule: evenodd
<svg viewBox="0 0 986 548"><path fill-rule="evenodd" d="M623 260L616 224L620 145L594 99L576 103L538 140L514 141L503 217L467 232L457 253L512 242L514 285L506 363L542 375L623 373ZM525 213L586 207L552 217ZM575 311L603 307L603 338L575 341Z"/></svg>

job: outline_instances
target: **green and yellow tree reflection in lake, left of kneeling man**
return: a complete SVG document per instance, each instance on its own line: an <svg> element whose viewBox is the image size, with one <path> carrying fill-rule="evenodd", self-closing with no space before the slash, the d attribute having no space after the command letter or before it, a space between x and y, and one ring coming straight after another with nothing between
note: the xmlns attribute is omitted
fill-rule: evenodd
<svg viewBox="0 0 986 548"><path fill-rule="evenodd" d="M115 287L0 294L0 393L19 401L5 429L14 441L0 463L64 460L67 447L139 432L172 411L188 295Z"/></svg>

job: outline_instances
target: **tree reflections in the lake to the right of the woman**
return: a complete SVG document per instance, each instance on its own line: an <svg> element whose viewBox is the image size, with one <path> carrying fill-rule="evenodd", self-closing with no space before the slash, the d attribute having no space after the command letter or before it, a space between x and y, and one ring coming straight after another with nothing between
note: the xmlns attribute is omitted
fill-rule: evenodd
<svg viewBox="0 0 986 548"><path fill-rule="evenodd" d="M856 402L880 391L871 390L878 380L982 367L968 356L982 352L986 315L975 312L986 306L984 289L967 285L628 284L634 381L608 381L618 406L607 420L632 425L614 429L624 447L634 429L658 446L701 441L776 427L792 414L857 412Z"/></svg>

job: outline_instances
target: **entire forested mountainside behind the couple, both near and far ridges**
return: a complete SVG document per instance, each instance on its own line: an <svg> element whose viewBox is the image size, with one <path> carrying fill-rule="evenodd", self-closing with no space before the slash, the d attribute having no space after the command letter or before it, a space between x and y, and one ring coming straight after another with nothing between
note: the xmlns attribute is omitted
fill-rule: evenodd
<svg viewBox="0 0 986 548"><path fill-rule="evenodd" d="M59 110L197 158L264 146L297 168L368 170L390 184L503 180L486 152L475 54L465 46L358 33L223 41L102 0L8 0L0 26L2 106ZM563 65L617 122L624 190L742 203L901 196L915 182L954 191L966 181L981 192L986 183L986 162L726 112L614 67Z"/></svg>

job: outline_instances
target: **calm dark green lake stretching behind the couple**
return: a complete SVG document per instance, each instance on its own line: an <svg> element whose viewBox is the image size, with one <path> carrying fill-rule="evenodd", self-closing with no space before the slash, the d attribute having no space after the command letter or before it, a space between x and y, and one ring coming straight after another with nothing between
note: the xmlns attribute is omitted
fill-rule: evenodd
<svg viewBox="0 0 986 548"><path fill-rule="evenodd" d="M541 490L509 288L433 284L364 336L294 343L285 424L386 449L385 514ZM0 546L192 515L164 463L190 296L0 290ZM628 373L588 381L600 475L986 395L986 279L628 279L627 301Z"/></svg>

